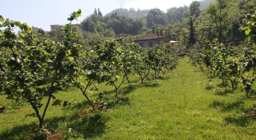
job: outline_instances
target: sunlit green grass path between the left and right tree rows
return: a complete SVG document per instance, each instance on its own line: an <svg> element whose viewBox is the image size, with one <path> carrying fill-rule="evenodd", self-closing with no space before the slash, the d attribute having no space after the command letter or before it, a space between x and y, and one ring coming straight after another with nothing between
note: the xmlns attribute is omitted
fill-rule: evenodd
<svg viewBox="0 0 256 140"><path fill-rule="evenodd" d="M206 90L209 82L215 90ZM255 139L255 120L240 113L252 100L215 82L182 58L168 78L136 88L130 104L105 113L105 133L95 139Z"/></svg>

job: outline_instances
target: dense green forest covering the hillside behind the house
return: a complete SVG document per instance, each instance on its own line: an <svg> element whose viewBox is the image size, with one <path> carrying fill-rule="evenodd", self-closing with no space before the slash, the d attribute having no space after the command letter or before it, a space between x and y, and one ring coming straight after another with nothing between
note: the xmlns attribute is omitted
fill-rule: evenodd
<svg viewBox="0 0 256 140"><path fill-rule="evenodd" d="M256 0L203 0L193 1L189 6L169 8L166 13L158 8L137 11L120 8L105 16L100 8L95 8L90 16L73 28L80 36L80 44L113 38L120 33L129 34L126 41L133 41L150 32L180 41L181 46L191 44L191 34L194 36L193 44L214 38L224 43L239 42L245 38L238 30L242 19L246 13L256 10L255 3ZM60 34L54 29L45 35L60 41Z"/></svg>

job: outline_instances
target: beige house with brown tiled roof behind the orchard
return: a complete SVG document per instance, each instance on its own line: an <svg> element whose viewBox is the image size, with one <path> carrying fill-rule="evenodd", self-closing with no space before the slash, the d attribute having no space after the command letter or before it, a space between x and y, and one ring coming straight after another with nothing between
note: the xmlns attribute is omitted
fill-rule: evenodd
<svg viewBox="0 0 256 140"><path fill-rule="evenodd" d="M141 38L138 38L136 40L134 40L135 43L139 44L142 47L153 47L156 44L160 44L160 42L169 42L168 37L165 36L161 36L161 35L157 35L157 34L147 34L146 36L142 36Z"/></svg>

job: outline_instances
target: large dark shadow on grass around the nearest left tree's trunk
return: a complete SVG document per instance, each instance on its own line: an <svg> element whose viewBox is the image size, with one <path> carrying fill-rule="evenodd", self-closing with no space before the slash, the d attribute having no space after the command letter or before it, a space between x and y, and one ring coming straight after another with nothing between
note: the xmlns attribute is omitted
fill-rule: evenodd
<svg viewBox="0 0 256 140"><path fill-rule="evenodd" d="M56 131L57 134L60 132L62 139L92 138L104 133L106 120L100 112L96 112L79 117L54 117L46 119L44 124L48 131L53 133ZM33 140L37 128L36 123L14 126L10 130L1 132L0 140Z"/></svg>

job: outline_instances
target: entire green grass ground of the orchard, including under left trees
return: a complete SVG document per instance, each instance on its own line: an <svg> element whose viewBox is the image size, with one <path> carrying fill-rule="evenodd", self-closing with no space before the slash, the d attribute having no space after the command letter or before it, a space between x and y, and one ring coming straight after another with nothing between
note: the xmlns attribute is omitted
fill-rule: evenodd
<svg viewBox="0 0 256 140"><path fill-rule="evenodd" d="M137 77L132 81L137 82ZM51 106L46 113L46 127L62 139L256 139L255 118L241 114L252 108L254 99L242 98L240 90L231 91L220 83L184 57L164 78L136 88L128 88L125 83L121 89L123 98L106 101L112 107L104 112L76 117L75 112L90 108L79 90L56 94L78 105ZM113 90L104 84L99 86L106 98L114 96ZM89 95L92 100L97 100L97 93ZM0 102L5 97L1 95ZM25 105L0 113L0 139L30 138L38 120L24 116L32 111Z"/></svg>

